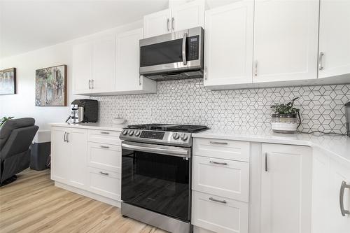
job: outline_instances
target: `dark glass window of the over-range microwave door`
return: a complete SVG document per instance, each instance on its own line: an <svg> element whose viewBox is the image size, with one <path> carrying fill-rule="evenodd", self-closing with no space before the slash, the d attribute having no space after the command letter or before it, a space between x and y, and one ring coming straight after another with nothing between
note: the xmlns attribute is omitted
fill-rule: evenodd
<svg viewBox="0 0 350 233"><path fill-rule="evenodd" d="M140 48L140 66L182 62L182 38Z"/></svg>

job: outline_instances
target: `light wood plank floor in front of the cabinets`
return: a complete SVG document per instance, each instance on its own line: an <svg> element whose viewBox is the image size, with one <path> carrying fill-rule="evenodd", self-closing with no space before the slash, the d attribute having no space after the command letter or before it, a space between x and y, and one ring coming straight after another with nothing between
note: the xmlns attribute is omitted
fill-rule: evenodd
<svg viewBox="0 0 350 233"><path fill-rule="evenodd" d="M165 233L123 218L109 204L55 187L48 169L27 169L0 187L0 232Z"/></svg>

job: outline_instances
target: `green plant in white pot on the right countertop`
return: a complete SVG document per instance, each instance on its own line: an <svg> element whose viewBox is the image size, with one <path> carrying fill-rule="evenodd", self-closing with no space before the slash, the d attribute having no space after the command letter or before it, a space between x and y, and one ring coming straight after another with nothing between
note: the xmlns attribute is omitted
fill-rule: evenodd
<svg viewBox="0 0 350 233"><path fill-rule="evenodd" d="M271 121L274 132L293 134L297 131L297 116L300 111L294 107L294 102L297 99L299 97L292 99L288 104L274 104L271 106L274 112Z"/></svg>

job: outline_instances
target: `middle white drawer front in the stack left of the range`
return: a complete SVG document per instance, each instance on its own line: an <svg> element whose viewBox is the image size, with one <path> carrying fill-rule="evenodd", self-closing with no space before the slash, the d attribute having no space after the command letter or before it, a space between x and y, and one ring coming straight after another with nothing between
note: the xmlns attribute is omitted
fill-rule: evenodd
<svg viewBox="0 0 350 233"><path fill-rule="evenodd" d="M87 143L89 167L120 173L121 146L104 143Z"/></svg>

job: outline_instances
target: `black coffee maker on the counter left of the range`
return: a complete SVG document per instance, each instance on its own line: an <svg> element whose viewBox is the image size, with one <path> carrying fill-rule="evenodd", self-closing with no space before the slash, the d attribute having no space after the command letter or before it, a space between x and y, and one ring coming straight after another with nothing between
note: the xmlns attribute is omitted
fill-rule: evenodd
<svg viewBox="0 0 350 233"><path fill-rule="evenodd" d="M71 122L97 122L99 106L94 99L76 99L71 102Z"/></svg>

